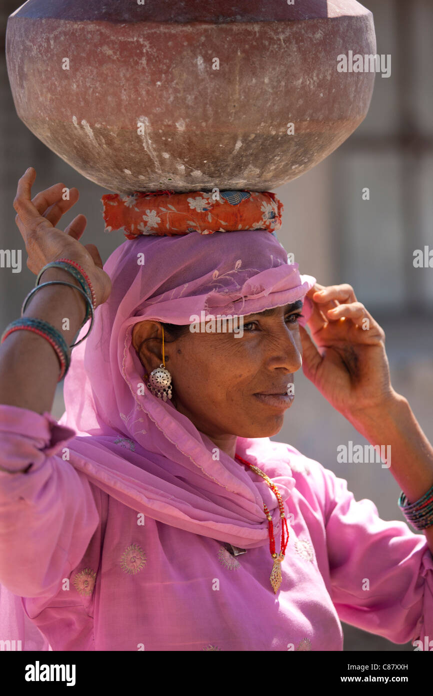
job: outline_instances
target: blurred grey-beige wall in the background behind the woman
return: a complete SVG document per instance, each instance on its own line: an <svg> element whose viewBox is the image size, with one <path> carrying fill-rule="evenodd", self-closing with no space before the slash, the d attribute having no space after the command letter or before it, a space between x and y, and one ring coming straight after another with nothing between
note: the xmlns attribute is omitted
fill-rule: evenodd
<svg viewBox="0 0 433 696"><path fill-rule="evenodd" d="M284 203L278 235L303 273L322 285L350 283L357 299L386 333L395 390L405 395L425 434L433 440L433 271L416 269L414 250L433 248L432 0L366 0L373 12L377 53L391 54L391 77L378 73L370 111L357 131L330 157L299 179L275 190ZM97 244L106 261L124 236L104 235L101 196L93 184L51 152L19 120L6 71L4 38L16 0L0 9L0 248L22 249L22 272L0 269L0 331L19 317L35 284L15 226L13 199L28 166L37 176L33 195L63 182L77 187L79 202L60 223L82 212L88 226L81 242ZM370 200L362 190L370 189ZM63 383L53 414L64 411ZM291 443L348 481L357 500L370 498L382 519L403 520L398 484L380 464L338 464L337 447L366 440L318 393L303 374L295 375L296 398L284 427L272 439ZM343 624L346 651L412 650Z"/></svg>

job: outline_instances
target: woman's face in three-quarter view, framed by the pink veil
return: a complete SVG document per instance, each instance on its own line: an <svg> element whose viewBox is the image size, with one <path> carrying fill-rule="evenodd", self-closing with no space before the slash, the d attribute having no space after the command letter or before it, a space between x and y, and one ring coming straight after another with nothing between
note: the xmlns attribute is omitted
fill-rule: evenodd
<svg viewBox="0 0 433 696"><path fill-rule="evenodd" d="M277 434L293 374L302 365L298 317L302 301L243 317L243 335L191 333L170 342L164 336L165 367L172 375L172 403L211 439ZM133 330L133 345L150 374L161 360L159 322L145 320ZM286 395L279 400L263 394Z"/></svg>

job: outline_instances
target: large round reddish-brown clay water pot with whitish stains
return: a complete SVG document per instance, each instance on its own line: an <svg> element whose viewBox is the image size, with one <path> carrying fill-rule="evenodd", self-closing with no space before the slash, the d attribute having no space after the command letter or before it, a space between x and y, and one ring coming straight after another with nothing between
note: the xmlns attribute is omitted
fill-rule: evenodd
<svg viewBox="0 0 433 696"><path fill-rule="evenodd" d="M19 118L115 193L275 189L365 118L373 15L354 0L28 0L8 19Z"/></svg>

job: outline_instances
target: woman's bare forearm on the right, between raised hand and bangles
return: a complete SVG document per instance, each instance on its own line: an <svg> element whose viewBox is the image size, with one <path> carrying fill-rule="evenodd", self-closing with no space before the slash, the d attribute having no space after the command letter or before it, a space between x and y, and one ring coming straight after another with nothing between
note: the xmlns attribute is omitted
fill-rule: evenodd
<svg viewBox="0 0 433 696"><path fill-rule="evenodd" d="M407 399L395 394L382 409L371 409L348 420L372 445L391 446L389 470L393 477L409 503L422 498L433 485L433 447ZM424 532L433 553L433 525Z"/></svg>

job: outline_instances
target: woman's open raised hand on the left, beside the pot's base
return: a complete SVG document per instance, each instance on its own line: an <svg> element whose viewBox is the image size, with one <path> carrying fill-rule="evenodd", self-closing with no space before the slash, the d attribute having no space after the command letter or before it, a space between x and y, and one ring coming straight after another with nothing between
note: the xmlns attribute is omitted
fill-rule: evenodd
<svg viewBox="0 0 433 696"><path fill-rule="evenodd" d="M51 261L60 258L75 261L84 269L93 285L97 306L104 303L111 292L111 279L102 269L102 260L95 244L83 245L79 242L87 224L85 215L77 215L65 232L56 228L61 216L79 199L78 189L70 189L70 199L63 200L65 185L54 184L31 198L35 176L35 169L29 167L18 181L13 202L17 211L15 222L26 245L28 268L37 276Z"/></svg>

